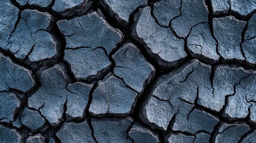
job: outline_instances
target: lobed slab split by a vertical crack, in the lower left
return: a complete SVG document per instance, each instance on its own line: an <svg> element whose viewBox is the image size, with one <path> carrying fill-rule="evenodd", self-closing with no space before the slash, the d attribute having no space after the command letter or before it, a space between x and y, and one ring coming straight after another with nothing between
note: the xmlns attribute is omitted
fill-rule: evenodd
<svg viewBox="0 0 256 143"><path fill-rule="evenodd" d="M38 75L41 87L29 97L29 107L41 111L42 116L45 116L52 126L57 126L63 120L65 104L68 116L73 118L84 116L90 85L79 83L68 85L70 79L63 64L56 64L50 69L43 67L38 71ZM78 91L74 91L78 88Z"/></svg>

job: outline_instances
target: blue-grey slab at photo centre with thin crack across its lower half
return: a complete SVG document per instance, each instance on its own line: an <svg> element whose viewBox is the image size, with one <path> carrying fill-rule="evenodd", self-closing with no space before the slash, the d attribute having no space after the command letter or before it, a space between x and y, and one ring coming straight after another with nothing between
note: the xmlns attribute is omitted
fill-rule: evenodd
<svg viewBox="0 0 256 143"><path fill-rule="evenodd" d="M123 45L112 58L115 60L115 75L124 79L124 82L137 92L143 91L143 87L155 73L154 67L132 43Z"/></svg>

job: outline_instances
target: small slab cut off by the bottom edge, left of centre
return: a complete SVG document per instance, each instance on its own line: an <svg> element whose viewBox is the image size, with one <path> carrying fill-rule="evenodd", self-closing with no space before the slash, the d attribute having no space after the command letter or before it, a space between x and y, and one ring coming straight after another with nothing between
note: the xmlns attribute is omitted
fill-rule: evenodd
<svg viewBox="0 0 256 143"><path fill-rule="evenodd" d="M75 134L73 134L73 132L75 132ZM56 135L63 143L95 142L91 136L91 129L86 121L82 123L65 123Z"/></svg>

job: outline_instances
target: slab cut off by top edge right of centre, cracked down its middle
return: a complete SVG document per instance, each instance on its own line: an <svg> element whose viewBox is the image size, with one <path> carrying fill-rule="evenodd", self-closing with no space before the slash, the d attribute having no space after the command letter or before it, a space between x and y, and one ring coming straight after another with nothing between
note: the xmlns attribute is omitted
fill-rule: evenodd
<svg viewBox="0 0 256 143"><path fill-rule="evenodd" d="M193 26L208 21L208 9L202 0L159 1L154 4L153 14L161 26L171 26L183 38L189 35Z"/></svg>

